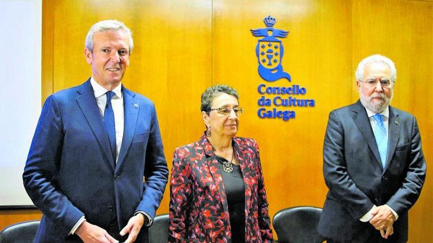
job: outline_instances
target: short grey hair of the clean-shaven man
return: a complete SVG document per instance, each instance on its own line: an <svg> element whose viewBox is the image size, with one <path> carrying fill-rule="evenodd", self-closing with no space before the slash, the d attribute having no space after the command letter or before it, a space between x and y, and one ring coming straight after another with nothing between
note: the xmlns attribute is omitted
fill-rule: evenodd
<svg viewBox="0 0 433 243"><path fill-rule="evenodd" d="M124 25L124 23L117 20L103 20L94 24L87 33L86 36L86 48L93 53L93 34L96 32L103 31L116 31L122 29L128 35L129 38L129 54L132 53L134 48L134 41L132 40L132 31Z"/></svg>

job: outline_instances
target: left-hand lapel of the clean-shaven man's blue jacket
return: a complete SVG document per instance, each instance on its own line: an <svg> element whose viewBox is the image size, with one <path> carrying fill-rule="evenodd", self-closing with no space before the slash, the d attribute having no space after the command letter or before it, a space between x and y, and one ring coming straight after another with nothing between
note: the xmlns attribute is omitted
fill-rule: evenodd
<svg viewBox="0 0 433 243"><path fill-rule="evenodd" d="M80 96L76 98L78 106L86 117L87 122L92 128L102 151L105 154L111 168L114 170L113 156L111 155L110 141L108 140L107 132L105 131L104 122L102 121L101 114L99 113L98 105L94 97L93 88L90 84L90 79L80 86L77 91Z"/></svg>

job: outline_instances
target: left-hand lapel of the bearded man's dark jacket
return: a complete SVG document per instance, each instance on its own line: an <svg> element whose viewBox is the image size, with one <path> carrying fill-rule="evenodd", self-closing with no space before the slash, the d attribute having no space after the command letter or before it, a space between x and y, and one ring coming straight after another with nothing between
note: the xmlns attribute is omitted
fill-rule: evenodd
<svg viewBox="0 0 433 243"><path fill-rule="evenodd" d="M369 117L367 116L367 111L364 106L361 104L361 101L358 101L353 110L353 120L361 131L362 135L367 141L371 151L376 158L376 161L379 163L380 168L382 168L382 163L380 161L379 150L377 148L376 139L374 138L373 130L371 130L371 123Z"/></svg>

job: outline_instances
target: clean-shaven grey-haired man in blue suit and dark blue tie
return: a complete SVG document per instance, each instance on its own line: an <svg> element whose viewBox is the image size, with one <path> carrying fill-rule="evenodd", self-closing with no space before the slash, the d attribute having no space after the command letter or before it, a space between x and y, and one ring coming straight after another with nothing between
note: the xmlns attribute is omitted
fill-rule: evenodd
<svg viewBox="0 0 433 243"><path fill-rule="evenodd" d="M122 85L132 48L123 23L94 24L92 77L45 101L23 174L36 243L148 242L168 169L154 104Z"/></svg>

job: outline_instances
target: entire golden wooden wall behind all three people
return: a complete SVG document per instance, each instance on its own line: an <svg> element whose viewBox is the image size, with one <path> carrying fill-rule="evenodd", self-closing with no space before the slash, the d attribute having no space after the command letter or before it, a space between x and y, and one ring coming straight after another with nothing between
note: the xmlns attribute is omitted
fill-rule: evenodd
<svg viewBox="0 0 433 243"><path fill-rule="evenodd" d="M282 39L282 64L291 82L258 76L259 38L250 29L263 28L269 14L277 18L275 28L290 31ZM238 89L246 110L238 135L260 145L270 216L286 207L321 207L327 191L322 146L328 114L358 99L353 73L367 55L395 61L392 105L417 117L425 157L433 158L432 15L433 2L421 0L44 0L42 97L89 78L85 35L96 21L118 19L135 40L123 82L155 102L169 168L174 148L195 141L204 130L200 94L227 83ZM315 107L288 107L296 118L287 122L260 119L260 83L304 86L307 94L295 97L314 99ZM432 184L427 176L410 211L410 242L430 239ZM168 212L168 197L167 188L158 214ZM2 211L0 221L33 217L40 217L38 211Z"/></svg>

